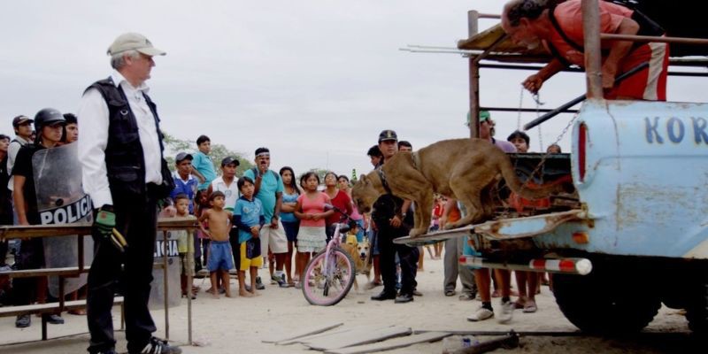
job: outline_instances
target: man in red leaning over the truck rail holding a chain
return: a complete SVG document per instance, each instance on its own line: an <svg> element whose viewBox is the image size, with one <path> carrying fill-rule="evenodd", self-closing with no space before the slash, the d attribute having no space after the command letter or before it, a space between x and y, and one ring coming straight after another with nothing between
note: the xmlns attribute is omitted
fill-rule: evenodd
<svg viewBox="0 0 708 354"><path fill-rule="evenodd" d="M535 49L543 45L553 59L522 82L536 93L543 82L569 65L584 67L581 0L556 6L548 0L512 0L504 5L502 28L512 41ZM599 2L600 32L616 35L664 35L664 30L641 12L618 4ZM602 82L607 99L666 101L668 46L658 42L607 41L603 50ZM615 78L637 65L643 70L614 85Z"/></svg>

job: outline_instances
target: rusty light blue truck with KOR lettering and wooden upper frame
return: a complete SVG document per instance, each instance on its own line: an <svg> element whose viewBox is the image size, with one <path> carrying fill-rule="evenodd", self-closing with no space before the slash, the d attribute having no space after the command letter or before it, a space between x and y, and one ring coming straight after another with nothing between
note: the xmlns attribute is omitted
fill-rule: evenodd
<svg viewBox="0 0 708 354"><path fill-rule="evenodd" d="M508 63L543 62L544 54L514 48L498 25L477 34L476 20L484 16L470 12L470 38L458 42L470 60L473 117L488 108L481 107L477 94L481 60L503 63L488 65L496 68L523 69ZM586 34L599 35L599 30ZM599 55L591 43L586 38L586 59ZM674 50L674 44L672 52L696 54L683 46ZM705 55L705 48L699 54ZM673 64L706 62L683 58ZM599 68L586 71L599 73ZM400 242L464 236L474 249L460 260L466 266L553 273L560 310L583 331L636 332L664 304L685 309L690 329L704 335L708 104L604 100L599 81L589 76L588 82L588 99L573 120L569 154L510 154L521 179L544 184L565 178L573 184L572 194L523 210L496 205L495 217L486 222Z"/></svg>

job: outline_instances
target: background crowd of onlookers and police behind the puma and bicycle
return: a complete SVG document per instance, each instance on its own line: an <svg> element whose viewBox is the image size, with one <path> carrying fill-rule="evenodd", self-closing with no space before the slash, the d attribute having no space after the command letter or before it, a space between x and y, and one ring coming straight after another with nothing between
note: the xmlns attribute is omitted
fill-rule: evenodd
<svg viewBox="0 0 708 354"><path fill-rule="evenodd" d="M489 140L507 152L528 151L530 139L527 134L515 131L506 142L499 141L494 138L495 123L490 113L481 112L480 121L481 139ZM7 225L39 224L36 198L31 196L34 193L32 154L36 150L75 142L78 139L77 119L71 113L45 109L38 112L35 119L18 116L12 125L16 135L12 141L6 135L0 136L4 167L1 182L8 186L4 189L0 217ZM39 133L37 137L32 136L35 131ZM380 168L399 150L412 150L412 144L398 141L394 131L384 130L378 144L366 154L373 168ZM551 145L548 151L559 152L559 147ZM414 206L410 201L384 195L376 201L372 215L362 215L351 199L350 179L346 175L328 172L320 181L320 176L314 172L301 173L298 179L289 166L282 166L279 172L275 172L270 168L270 150L261 147L254 152L255 167L239 177L236 175L240 165L238 158L223 158L217 168L210 153L211 139L201 135L196 139L195 152L176 154L172 173L174 187L160 213L162 217L193 215L199 220L200 229L193 245L187 244L186 233L176 234L182 258L182 296L194 298L198 292L198 287L186 281L190 270L184 258L190 247L195 250L194 271L199 273L205 267L205 272L209 273L212 287L208 291L212 296L218 297L219 293L232 296L228 284L229 271L233 270L237 273L238 295L258 296L257 290L266 288L258 276L258 268L268 265L272 285L299 288L304 266L313 253L324 249L332 237L335 223L342 220L342 212L358 224L357 242L366 240L372 245L374 276L366 288L383 286L381 293L372 299L395 299L396 303L406 303L413 301L413 296L420 295L415 278L423 268L423 250L393 243L393 239L408 235L412 227ZM327 207L328 204L336 208ZM435 207L430 211L433 215L431 231L459 219L464 213L461 209L455 200L436 196ZM43 266L41 239L33 240L36 241L21 243L15 255L15 269ZM2 246L0 265L6 270L12 269L4 263L7 242ZM492 293L488 270L472 271L458 265L464 248L464 240L456 238L444 242L444 252L443 243L428 246L428 252L431 259L441 258L444 254L445 296L456 294L459 278L462 283L460 300L481 299L481 308L474 312L471 320L488 319L494 315L489 300L492 296L502 297L504 316L511 313L508 308L512 306L524 312L535 312L534 296L540 281L535 274L517 272L519 300L512 304L509 272L495 272L496 289ZM47 301L46 279L40 279L39 283L15 280L12 304ZM63 322L58 313L49 316L50 323ZM17 327L27 327L30 323L28 315L19 316L16 321Z"/></svg>

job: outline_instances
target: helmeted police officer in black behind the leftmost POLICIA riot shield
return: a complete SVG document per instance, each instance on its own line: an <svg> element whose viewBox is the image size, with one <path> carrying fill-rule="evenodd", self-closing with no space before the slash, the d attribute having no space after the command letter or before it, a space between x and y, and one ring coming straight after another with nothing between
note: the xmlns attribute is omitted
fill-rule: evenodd
<svg viewBox="0 0 708 354"><path fill-rule="evenodd" d="M35 115L35 143L28 143L19 148L15 165L12 168L15 212L19 225L42 224L37 206L35 189L35 169L32 157L35 152L50 149L61 141L62 131L66 121L61 112L53 108L45 108ZM44 266L44 246L41 238L31 238L19 245L19 257L16 261L19 269L38 269ZM29 304L32 290L37 289L36 299L43 302L47 297L47 278L30 278L13 280L15 289L15 304ZM58 314L45 315L52 324L62 324L64 319ZM15 327L29 327L29 315L19 315Z"/></svg>

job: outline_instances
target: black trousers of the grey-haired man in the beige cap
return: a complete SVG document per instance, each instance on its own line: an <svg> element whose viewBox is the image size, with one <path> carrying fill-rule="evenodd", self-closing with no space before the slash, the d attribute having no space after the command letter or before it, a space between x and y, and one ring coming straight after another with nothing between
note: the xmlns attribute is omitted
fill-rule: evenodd
<svg viewBox="0 0 708 354"><path fill-rule="evenodd" d="M126 237L128 246L125 253L121 254L110 242L101 242L94 236L96 249L89 271L89 294L86 300L91 334L89 351L107 350L115 346L111 310L113 296L120 290L125 297L127 350L132 353L142 350L157 329L148 310L148 301L158 227L158 204L153 197L148 197L147 201L113 202L116 229Z"/></svg>

